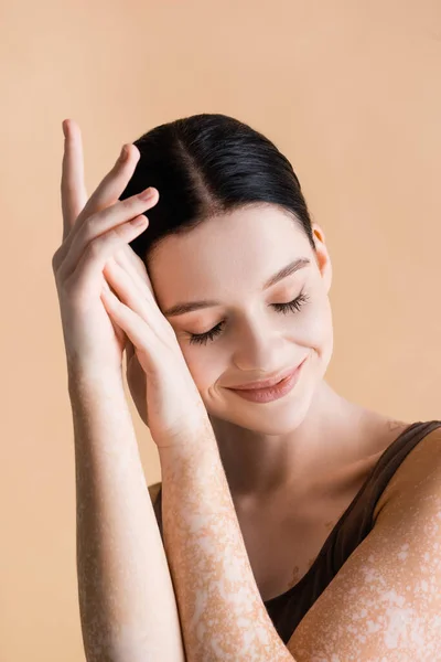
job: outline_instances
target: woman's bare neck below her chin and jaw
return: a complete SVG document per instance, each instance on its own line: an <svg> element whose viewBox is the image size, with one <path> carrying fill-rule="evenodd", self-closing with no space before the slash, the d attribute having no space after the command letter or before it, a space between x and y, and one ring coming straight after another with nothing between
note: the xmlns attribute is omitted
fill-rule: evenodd
<svg viewBox="0 0 441 662"><path fill-rule="evenodd" d="M256 433L211 415L209 420L232 495L266 500L286 488L306 490L314 476L332 470L348 455L355 457L354 431L362 431L366 417L366 409L322 381L306 412L299 412L299 424L287 434Z"/></svg>

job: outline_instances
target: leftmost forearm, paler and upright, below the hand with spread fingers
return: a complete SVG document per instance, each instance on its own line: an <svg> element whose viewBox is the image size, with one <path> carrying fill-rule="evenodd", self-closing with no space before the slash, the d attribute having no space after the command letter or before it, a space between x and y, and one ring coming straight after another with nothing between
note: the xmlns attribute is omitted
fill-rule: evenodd
<svg viewBox="0 0 441 662"><path fill-rule="evenodd" d="M87 660L182 662L173 585L122 381L71 370L68 389Z"/></svg>

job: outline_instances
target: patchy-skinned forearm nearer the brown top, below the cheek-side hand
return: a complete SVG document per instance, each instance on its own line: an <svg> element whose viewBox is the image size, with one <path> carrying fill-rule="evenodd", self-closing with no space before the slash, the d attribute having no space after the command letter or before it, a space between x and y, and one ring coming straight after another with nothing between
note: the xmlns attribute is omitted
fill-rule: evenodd
<svg viewBox="0 0 441 662"><path fill-rule="evenodd" d="M209 420L159 448L165 551L189 662L293 662L260 597Z"/></svg>

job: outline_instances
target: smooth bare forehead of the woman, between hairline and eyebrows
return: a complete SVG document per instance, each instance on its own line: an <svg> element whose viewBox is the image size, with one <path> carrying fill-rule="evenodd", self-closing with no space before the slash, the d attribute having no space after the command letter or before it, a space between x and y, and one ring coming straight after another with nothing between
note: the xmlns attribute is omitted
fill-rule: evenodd
<svg viewBox="0 0 441 662"><path fill-rule="evenodd" d="M149 231L147 231L149 232ZM219 280L260 282L290 259L311 253L305 233L273 205L252 205L214 216L186 235L166 237L149 260L154 290L217 288ZM185 292L182 292L185 293Z"/></svg>

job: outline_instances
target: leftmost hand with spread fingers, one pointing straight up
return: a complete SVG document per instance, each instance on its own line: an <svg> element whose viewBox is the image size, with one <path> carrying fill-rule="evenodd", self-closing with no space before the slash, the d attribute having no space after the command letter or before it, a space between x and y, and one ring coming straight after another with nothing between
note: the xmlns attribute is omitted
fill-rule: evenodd
<svg viewBox="0 0 441 662"><path fill-rule="evenodd" d="M129 158L118 159L87 200L79 127L65 120L63 129L63 241L53 255L52 267L67 363L96 373L120 370L127 339L112 324L101 301L103 289L109 290L104 269L114 255L130 249L128 243L146 229L148 220L141 214L158 202L158 191L153 189L148 201L137 195L118 200L140 156L130 145L126 146ZM135 225L138 221L143 224Z"/></svg>

